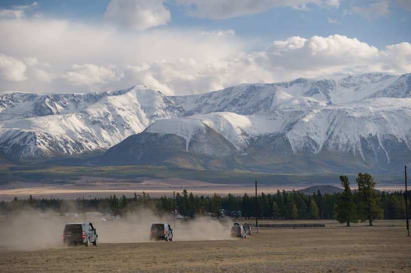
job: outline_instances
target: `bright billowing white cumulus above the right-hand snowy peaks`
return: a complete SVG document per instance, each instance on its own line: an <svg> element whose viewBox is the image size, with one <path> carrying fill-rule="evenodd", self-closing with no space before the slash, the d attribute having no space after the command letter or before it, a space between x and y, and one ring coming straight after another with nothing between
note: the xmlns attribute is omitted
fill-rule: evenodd
<svg viewBox="0 0 411 273"><path fill-rule="evenodd" d="M401 43L378 50L356 38L341 35L292 37L274 42L256 59L277 77L326 77L355 70L408 73L411 71L411 45Z"/></svg>

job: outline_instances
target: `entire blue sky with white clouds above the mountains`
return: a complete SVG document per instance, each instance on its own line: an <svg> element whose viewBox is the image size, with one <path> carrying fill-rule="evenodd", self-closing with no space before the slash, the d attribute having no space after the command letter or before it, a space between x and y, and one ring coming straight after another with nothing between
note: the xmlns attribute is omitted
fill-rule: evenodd
<svg viewBox="0 0 411 273"><path fill-rule="evenodd" d="M407 0L2 0L0 24L0 92L411 72Z"/></svg>

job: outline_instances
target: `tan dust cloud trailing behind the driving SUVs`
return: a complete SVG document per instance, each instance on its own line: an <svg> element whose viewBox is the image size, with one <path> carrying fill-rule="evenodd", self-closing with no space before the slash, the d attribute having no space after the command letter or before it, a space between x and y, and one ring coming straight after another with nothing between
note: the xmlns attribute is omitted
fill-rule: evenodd
<svg viewBox="0 0 411 273"><path fill-rule="evenodd" d="M173 240L231 239L231 221L221 222L211 217L174 220L172 215L158 216L150 210L130 213L120 219L101 221L101 217L84 219L51 216L53 213L25 211L0 222L0 251L62 248L63 230L67 223L91 222L96 228L99 243L150 242L153 223L167 223L173 229ZM55 215L55 213L54 213ZM153 241L155 243L155 241Z"/></svg>

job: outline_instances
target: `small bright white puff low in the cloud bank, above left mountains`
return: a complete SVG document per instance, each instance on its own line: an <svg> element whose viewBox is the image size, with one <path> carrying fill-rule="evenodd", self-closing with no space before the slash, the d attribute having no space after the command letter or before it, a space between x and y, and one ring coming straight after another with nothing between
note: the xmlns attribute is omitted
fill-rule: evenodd
<svg viewBox="0 0 411 273"><path fill-rule="evenodd" d="M118 71L115 66L73 64L63 77L74 85L92 85L119 81L123 77L123 73Z"/></svg>

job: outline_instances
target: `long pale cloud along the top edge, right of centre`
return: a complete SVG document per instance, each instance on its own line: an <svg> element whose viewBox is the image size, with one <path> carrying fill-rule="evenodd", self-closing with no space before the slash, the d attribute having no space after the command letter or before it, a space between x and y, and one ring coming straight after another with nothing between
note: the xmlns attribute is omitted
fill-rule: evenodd
<svg viewBox="0 0 411 273"><path fill-rule="evenodd" d="M270 8L309 10L306 5L339 7L340 0L175 0L186 14L198 18L228 19L257 14Z"/></svg>

